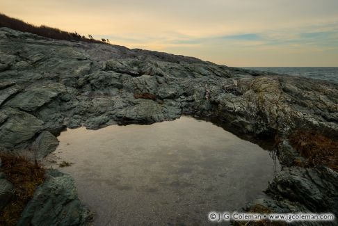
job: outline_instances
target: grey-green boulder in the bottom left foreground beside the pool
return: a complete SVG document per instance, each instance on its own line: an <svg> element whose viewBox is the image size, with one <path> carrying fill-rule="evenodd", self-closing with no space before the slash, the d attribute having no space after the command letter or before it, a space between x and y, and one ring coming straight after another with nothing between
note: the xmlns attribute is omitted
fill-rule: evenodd
<svg viewBox="0 0 338 226"><path fill-rule="evenodd" d="M89 225L91 218L77 197L74 179L47 170L45 182L36 189L17 225Z"/></svg>

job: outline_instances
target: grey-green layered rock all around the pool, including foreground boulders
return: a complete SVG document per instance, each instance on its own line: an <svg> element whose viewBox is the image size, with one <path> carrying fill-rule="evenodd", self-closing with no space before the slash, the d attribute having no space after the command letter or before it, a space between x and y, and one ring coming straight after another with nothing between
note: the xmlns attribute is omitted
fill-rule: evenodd
<svg viewBox="0 0 338 226"><path fill-rule="evenodd" d="M271 212L338 216L338 173L325 166L297 166L295 159L303 160L288 140L299 129L337 140L337 83L156 51L51 40L7 28L0 28L0 56L3 152L42 159L54 152L56 137L65 128L151 124L181 115L217 118L230 131L277 140L282 171L268 187L271 199L256 200L248 210L259 204ZM56 207L56 214L44 214ZM53 170L35 191L19 225L62 225L63 220L85 225L89 219L74 181Z"/></svg>

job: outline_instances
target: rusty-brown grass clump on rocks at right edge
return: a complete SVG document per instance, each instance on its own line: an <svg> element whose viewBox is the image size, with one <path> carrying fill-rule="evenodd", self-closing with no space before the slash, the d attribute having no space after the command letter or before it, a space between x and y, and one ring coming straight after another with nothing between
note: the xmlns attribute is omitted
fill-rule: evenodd
<svg viewBox="0 0 338 226"><path fill-rule="evenodd" d="M338 141L316 131L296 131L289 140L306 159L305 167L325 165L338 171Z"/></svg>

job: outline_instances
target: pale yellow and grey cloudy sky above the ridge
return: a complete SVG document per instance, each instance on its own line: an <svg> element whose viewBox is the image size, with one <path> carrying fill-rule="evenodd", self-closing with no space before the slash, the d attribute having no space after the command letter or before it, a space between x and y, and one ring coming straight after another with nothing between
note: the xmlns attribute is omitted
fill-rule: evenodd
<svg viewBox="0 0 338 226"><path fill-rule="evenodd" d="M338 67L338 0L0 0L0 13L234 67Z"/></svg>

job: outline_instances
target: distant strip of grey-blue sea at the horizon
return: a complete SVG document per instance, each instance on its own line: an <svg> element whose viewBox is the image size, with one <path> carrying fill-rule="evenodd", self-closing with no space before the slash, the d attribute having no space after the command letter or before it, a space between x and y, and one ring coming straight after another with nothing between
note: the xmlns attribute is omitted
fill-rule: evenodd
<svg viewBox="0 0 338 226"><path fill-rule="evenodd" d="M242 67L250 70L304 76L338 83L338 67Z"/></svg>

